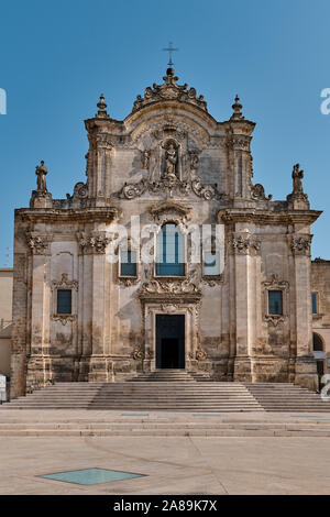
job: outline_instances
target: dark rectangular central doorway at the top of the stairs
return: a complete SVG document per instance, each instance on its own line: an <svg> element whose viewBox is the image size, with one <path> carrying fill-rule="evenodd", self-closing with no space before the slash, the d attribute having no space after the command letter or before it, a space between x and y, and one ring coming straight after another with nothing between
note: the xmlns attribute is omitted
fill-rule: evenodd
<svg viewBox="0 0 330 517"><path fill-rule="evenodd" d="M185 316L156 315L156 369L185 367Z"/></svg>

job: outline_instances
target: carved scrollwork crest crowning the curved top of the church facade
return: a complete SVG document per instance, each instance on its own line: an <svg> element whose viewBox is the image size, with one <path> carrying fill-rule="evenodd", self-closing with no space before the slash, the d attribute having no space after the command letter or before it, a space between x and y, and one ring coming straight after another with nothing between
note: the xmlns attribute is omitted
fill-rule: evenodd
<svg viewBox="0 0 330 517"><path fill-rule="evenodd" d="M144 106L147 106L152 102L160 102L166 100L177 100L178 102L189 102L197 106L204 111L207 110L207 103L204 100L202 96L197 97L196 89L189 88L188 85L177 85L176 81L178 77L174 75L173 68L167 68L166 76L163 77L164 84L156 85L153 84L153 87L150 86L145 88L144 97L138 96L133 106L134 111L140 110Z"/></svg>

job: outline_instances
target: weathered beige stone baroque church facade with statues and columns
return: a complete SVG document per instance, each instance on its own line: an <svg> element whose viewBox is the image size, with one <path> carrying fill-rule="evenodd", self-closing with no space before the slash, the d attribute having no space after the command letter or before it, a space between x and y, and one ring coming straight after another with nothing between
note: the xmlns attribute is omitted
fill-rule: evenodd
<svg viewBox="0 0 330 517"><path fill-rule="evenodd" d="M123 121L101 96L85 121L87 180L66 199L36 167L30 208L15 210L12 397L160 369L317 387L310 226L321 212L304 173L294 166L285 200L266 196L240 99L219 122L177 81L168 68Z"/></svg>

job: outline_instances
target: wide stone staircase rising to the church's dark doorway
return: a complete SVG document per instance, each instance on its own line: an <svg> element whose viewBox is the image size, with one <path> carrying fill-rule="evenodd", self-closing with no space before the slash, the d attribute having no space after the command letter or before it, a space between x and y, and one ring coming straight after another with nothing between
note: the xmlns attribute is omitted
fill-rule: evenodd
<svg viewBox="0 0 330 517"><path fill-rule="evenodd" d="M185 371L140 375L125 383L56 383L2 406L8 409L132 411L330 413L330 400L293 384L197 382Z"/></svg>

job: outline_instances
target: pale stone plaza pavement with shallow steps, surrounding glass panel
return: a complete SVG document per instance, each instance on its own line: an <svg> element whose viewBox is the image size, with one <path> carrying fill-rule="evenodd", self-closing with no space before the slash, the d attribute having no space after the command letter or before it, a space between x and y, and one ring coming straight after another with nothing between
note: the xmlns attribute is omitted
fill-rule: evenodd
<svg viewBox="0 0 330 517"><path fill-rule="evenodd" d="M330 493L330 414L142 415L2 407L0 430L2 495ZM144 477L94 486L38 477L89 468Z"/></svg>

